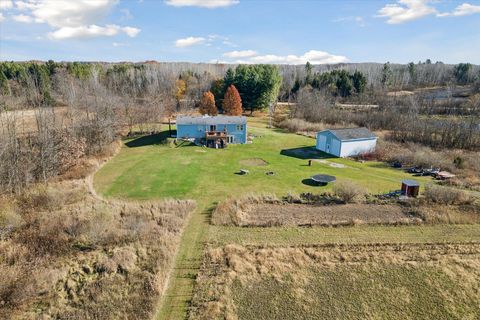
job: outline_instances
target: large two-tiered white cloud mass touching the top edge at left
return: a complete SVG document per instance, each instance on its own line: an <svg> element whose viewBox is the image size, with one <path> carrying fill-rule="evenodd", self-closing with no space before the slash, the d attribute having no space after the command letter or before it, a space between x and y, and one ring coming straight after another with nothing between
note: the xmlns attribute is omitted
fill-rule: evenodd
<svg viewBox="0 0 480 320"><path fill-rule="evenodd" d="M50 39L92 38L115 36L120 33L135 37L140 32L138 28L122 27L115 24L99 25L117 4L118 0L29 0L15 2L18 10L25 11L31 17L31 19L22 17L17 21L48 24L56 29L49 33Z"/></svg>

